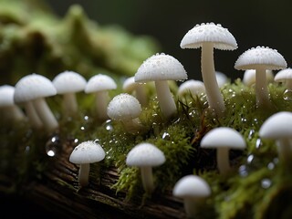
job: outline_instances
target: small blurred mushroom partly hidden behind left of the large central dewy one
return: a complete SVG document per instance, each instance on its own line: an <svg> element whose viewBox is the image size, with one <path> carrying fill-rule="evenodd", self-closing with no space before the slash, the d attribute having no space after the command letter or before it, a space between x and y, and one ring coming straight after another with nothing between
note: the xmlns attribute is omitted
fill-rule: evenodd
<svg viewBox="0 0 292 219"><path fill-rule="evenodd" d="M135 82L135 77L126 78L122 85L122 90L126 93L133 94L139 100L141 106L147 105L147 94L145 85Z"/></svg>

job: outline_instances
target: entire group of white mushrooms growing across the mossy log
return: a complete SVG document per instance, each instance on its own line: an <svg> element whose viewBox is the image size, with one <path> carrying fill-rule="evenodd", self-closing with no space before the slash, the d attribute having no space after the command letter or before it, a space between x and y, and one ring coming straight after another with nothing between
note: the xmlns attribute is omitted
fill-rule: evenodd
<svg viewBox="0 0 292 219"><path fill-rule="evenodd" d="M135 134L142 129L139 116L144 106L147 106L145 83L154 82L156 96L164 120L170 120L177 113L175 98L169 87L169 81L184 81L178 96L190 92L192 95L205 93L209 108L214 111L214 117L224 117L224 98L220 91L225 76L214 69L214 48L234 50L237 48L235 37L223 26L206 23L194 26L181 42L182 48L202 49L201 69L203 81L189 79L183 65L174 57L166 54L155 54L147 58L138 68L135 76L127 78L123 84L124 93L109 99L108 91L117 89L115 81L107 75L96 75L87 82L85 78L73 71L65 71L52 81L38 74L21 78L16 86L0 88L0 104L9 112L7 116L15 120L28 118L32 127L45 127L48 131L57 130L58 122L47 106L46 98L63 95L64 113L72 115L78 112L76 92L95 93L96 116L99 120L120 120L126 131ZM245 70L243 82L250 86L255 84L256 106L270 108L267 83L277 81L287 83L287 89L292 89L292 70L287 68L287 62L276 49L270 47L252 47L246 50L235 62L235 69ZM279 70L274 78L272 70ZM219 78L220 77L220 78ZM222 78L224 77L224 78ZM220 81L223 79L223 83ZM68 87L68 84L70 86ZM22 105L25 113L17 105ZM281 119L285 118L285 119ZM279 120L280 119L280 120ZM277 112L268 118L259 130L259 136L276 141L281 161L288 159L292 112ZM286 126L287 125L287 126ZM227 174L232 168L229 164L230 149L245 150L245 139L236 130L229 127L219 127L208 131L201 141L202 148L215 148L217 151L217 169L221 174ZM71 153L69 162L79 164L78 183L86 186L89 183L89 163L99 162L105 158L105 151L97 141L81 142ZM129 166L140 167L141 180L146 193L152 193L155 188L152 179L152 167L162 165L165 156L155 145L141 142L133 147L127 155ZM179 180L173 195L183 198L186 214L193 217L196 214L197 203L211 194L209 185L203 178L187 175Z"/></svg>

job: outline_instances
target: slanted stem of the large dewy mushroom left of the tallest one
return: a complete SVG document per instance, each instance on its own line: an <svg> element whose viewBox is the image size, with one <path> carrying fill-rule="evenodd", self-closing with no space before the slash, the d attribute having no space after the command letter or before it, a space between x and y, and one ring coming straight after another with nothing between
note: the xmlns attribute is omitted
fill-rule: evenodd
<svg viewBox="0 0 292 219"><path fill-rule="evenodd" d="M157 92L157 99L162 110L162 115L168 119L176 113L176 105L167 80L156 80L155 88Z"/></svg>

